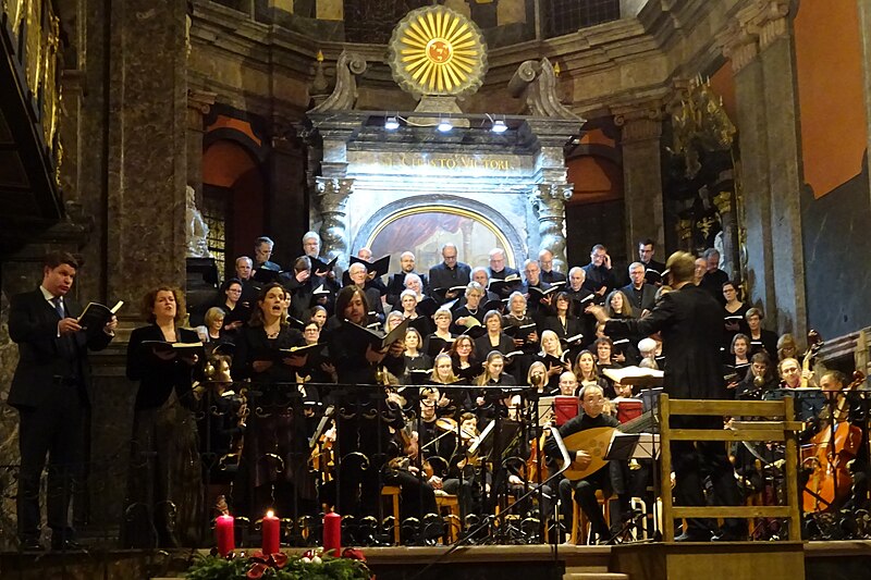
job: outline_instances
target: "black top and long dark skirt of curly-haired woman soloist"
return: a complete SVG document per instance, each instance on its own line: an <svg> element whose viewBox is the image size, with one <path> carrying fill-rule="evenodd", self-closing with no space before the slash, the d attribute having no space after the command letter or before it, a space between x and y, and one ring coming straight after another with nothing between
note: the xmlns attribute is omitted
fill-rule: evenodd
<svg viewBox="0 0 871 580"><path fill-rule="evenodd" d="M175 329L179 343L199 340ZM163 360L145 341L165 341L157 324L133 331L127 345L127 379L138 381L133 417L131 467L122 525L124 547L198 545L203 518L195 367L180 356Z"/></svg>

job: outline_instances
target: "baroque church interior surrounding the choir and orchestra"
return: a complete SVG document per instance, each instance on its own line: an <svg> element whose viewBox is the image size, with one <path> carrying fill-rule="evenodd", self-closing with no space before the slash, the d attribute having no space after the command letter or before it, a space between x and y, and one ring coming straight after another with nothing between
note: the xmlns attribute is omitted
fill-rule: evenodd
<svg viewBox="0 0 871 580"><path fill-rule="evenodd" d="M214 545L207 493L196 545L119 550L138 412L126 354L146 291L181 288L186 328L203 324L262 236L291 276L311 232L336 277L367 251L392 273L410 250L427 272L449 246L473 269L501 248L520 275L547 250L567 274L601 245L614 287L631 284L639 244L660 262L715 248L765 331L798 354L819 337L811 371L858 372L847 382L867 388L871 270L837 264L864 256L871 224L869 30L871 0L2 2L0 576L183 577ZM28 555L16 535L10 310L51 250L77 257L78 303L124 303L88 356L87 474L70 508L88 556ZM321 517L290 554L320 545ZM389 529L360 545L387 579L867 575L868 511L813 541L794 523L722 544L520 530L390 547ZM259 547L266 527L236 544Z"/></svg>

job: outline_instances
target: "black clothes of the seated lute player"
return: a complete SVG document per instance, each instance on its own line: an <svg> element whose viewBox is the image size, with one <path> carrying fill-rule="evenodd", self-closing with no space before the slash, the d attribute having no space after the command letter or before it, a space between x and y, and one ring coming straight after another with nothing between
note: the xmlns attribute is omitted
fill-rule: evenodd
<svg viewBox="0 0 871 580"><path fill-rule="evenodd" d="M584 412L577 417L566 421L560 428L560 435L566 439L580 431L587 429L596 429L599 427L617 427L619 422L610 415L599 415L592 418ZM582 449L588 451L588 449ZM553 437L548 437L544 443L544 453L552 459L561 459L560 447ZM589 453L589 451L588 451ZM577 452L568 451L568 459L574 462L577 457ZM562 501L563 521L566 522L566 529L572 529L572 497L580 505L584 514L590 520L590 533L601 538L608 536L608 522L605 521L602 509L599 507L599 502L596 499L596 491L602 490L602 495L609 497L611 495L611 473L609 466L603 466L598 471L594 471L580 480L563 479L560 481L560 498Z"/></svg>

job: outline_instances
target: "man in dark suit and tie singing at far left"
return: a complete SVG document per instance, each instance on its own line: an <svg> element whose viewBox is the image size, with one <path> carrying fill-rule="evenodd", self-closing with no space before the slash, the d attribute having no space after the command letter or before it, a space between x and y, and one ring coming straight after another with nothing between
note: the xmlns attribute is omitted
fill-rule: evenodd
<svg viewBox="0 0 871 580"><path fill-rule="evenodd" d="M9 335L19 345L19 366L9 404L19 410L17 517L22 550L38 551L39 479L48 466L48 525L53 550L79 550L69 520L73 486L82 474L84 417L88 406L90 369L87 351L106 348L118 325L114 317L103 329L83 329L82 307L66 295L78 261L68 252L46 256L42 283L12 297Z"/></svg>

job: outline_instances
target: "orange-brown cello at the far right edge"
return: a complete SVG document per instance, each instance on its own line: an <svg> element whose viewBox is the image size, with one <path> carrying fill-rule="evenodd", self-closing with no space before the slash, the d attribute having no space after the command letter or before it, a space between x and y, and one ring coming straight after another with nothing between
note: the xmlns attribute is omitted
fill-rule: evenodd
<svg viewBox="0 0 871 580"><path fill-rule="evenodd" d="M802 492L802 508L806 514L829 511L844 499L852 488L852 477L847 464L856 457L862 443L862 430L847 421L845 392L864 381L860 371L852 373L852 382L841 391L831 392L835 397L825 422L811 439L812 455L803 458L802 465L812 472Z"/></svg>

